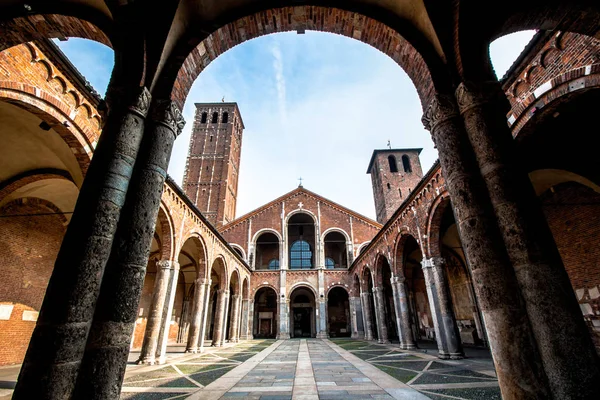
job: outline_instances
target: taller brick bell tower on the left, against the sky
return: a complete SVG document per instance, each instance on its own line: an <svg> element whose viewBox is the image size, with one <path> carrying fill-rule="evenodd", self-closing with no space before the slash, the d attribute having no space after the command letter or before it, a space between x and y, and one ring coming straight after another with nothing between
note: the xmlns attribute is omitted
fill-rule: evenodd
<svg viewBox="0 0 600 400"><path fill-rule="evenodd" d="M183 189L217 229L235 217L243 131L237 103L196 103Z"/></svg>

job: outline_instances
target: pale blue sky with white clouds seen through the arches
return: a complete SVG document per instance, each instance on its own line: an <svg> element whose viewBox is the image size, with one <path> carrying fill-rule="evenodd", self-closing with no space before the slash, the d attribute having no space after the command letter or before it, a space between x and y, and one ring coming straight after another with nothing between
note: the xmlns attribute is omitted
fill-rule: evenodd
<svg viewBox="0 0 600 400"><path fill-rule="evenodd" d="M499 77L533 36L502 37L490 46ZM77 38L55 41L104 96L113 65L106 46ZM236 216L298 187L375 219L370 175L375 149L423 148L423 173L437 159L422 107L406 73L389 57L344 36L277 33L234 47L195 81L168 173L181 185L194 103L237 102L243 133Z"/></svg>

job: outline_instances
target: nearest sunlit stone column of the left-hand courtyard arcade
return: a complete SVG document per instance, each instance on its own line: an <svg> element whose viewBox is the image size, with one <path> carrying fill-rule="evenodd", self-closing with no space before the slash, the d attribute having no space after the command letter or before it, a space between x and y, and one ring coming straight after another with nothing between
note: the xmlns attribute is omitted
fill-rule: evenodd
<svg viewBox="0 0 600 400"><path fill-rule="evenodd" d="M156 351L158 349L158 338L163 316L163 308L167 299L169 281L171 275L171 261L161 260L156 263L156 280L152 292L152 302L144 333L144 342L138 364L154 365L156 363Z"/></svg>

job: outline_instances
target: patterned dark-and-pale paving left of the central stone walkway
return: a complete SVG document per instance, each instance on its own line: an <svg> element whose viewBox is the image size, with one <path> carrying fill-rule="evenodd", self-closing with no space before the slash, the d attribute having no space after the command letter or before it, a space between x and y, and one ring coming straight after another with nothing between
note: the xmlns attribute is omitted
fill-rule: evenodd
<svg viewBox="0 0 600 400"><path fill-rule="evenodd" d="M183 399L210 384L272 345L274 340L251 340L235 346L207 348L158 367L136 369L123 382L121 399Z"/></svg>

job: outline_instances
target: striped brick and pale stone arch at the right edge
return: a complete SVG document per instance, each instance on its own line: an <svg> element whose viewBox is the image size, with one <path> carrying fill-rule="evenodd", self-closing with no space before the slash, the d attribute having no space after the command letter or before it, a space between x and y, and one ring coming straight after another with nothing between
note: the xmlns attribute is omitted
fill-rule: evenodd
<svg viewBox="0 0 600 400"><path fill-rule="evenodd" d="M572 88L570 83L575 81L577 86ZM514 119L511 126L513 137L516 138L523 129L529 128L531 124L535 123L535 115L544 108L559 104L578 91L600 88L600 64L586 65L567 71L546 81L539 87L542 86L550 89L537 98L530 94L518 107L513 107L513 110L511 110L510 118ZM533 92L531 89L530 91Z"/></svg>

